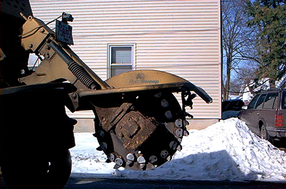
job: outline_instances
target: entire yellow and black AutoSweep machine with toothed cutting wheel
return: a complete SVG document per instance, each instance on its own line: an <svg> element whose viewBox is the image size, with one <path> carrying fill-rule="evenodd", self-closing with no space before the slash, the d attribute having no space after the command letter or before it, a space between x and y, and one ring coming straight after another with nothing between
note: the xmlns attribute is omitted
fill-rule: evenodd
<svg viewBox="0 0 286 189"><path fill-rule="evenodd" d="M181 150L185 110L200 87L170 73L135 70L103 81L71 50L73 18L55 32L32 15L29 1L1 1L0 166L9 188L63 188L75 145L71 111L94 112L97 150L114 168L154 169ZM28 69L29 53L41 59ZM180 93L182 107L172 93ZM194 93L191 93L194 92Z"/></svg>

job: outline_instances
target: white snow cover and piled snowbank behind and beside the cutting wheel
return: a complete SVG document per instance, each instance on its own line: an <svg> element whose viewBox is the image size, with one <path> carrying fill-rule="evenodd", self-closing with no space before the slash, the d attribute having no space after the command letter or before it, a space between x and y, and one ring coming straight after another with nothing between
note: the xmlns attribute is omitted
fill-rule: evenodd
<svg viewBox="0 0 286 189"><path fill-rule="evenodd" d="M132 179L267 180L285 181L286 153L254 135L237 118L220 121L203 130L189 130L183 149L173 160L149 171L130 171L106 156L91 133L75 133L71 149L72 176Z"/></svg>

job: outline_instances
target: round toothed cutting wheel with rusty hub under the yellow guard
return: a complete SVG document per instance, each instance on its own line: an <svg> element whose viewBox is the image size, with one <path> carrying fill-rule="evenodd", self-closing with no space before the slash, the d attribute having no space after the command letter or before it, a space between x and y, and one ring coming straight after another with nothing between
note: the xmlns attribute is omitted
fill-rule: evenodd
<svg viewBox="0 0 286 189"><path fill-rule="evenodd" d="M112 106L112 105L110 105ZM185 115L172 93L125 98L116 107L95 107L98 150L114 168L149 170L172 159L187 134Z"/></svg>

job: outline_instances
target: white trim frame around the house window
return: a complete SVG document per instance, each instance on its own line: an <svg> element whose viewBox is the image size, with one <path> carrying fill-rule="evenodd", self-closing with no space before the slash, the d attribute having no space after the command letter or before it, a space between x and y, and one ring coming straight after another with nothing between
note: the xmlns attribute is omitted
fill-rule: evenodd
<svg viewBox="0 0 286 189"><path fill-rule="evenodd" d="M131 57L132 57L132 63L131 63L131 70L135 70L135 49L136 44L135 43L129 43L129 44L107 44L107 78L111 77L111 47L131 47Z"/></svg>

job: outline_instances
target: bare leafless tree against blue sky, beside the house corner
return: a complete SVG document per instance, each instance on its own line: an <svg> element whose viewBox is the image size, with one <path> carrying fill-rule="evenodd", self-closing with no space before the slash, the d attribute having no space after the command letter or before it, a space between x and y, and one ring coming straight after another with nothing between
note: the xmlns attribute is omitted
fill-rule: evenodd
<svg viewBox="0 0 286 189"><path fill-rule="evenodd" d="M231 85L232 72L234 75L242 74L243 72L240 70L242 64L255 62L256 52L252 48L255 44L251 40L252 33L255 31L251 31L246 25L248 15L245 13L245 1L243 0L222 1L222 21L224 70L226 73L223 98L228 100L231 86L235 86ZM234 87L234 90L237 89Z"/></svg>

